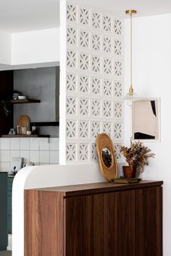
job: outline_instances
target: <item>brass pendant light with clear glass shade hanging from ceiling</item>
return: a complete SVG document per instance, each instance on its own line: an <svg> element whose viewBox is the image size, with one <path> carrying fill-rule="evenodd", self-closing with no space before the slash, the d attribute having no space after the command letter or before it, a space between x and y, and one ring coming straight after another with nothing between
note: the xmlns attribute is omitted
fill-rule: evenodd
<svg viewBox="0 0 171 256"><path fill-rule="evenodd" d="M124 99L128 101L128 105L132 107L133 101L138 99L137 94L133 92L133 25L132 16L136 14L136 11L129 9L125 11L126 15L130 15L130 88L128 94L125 95Z"/></svg>

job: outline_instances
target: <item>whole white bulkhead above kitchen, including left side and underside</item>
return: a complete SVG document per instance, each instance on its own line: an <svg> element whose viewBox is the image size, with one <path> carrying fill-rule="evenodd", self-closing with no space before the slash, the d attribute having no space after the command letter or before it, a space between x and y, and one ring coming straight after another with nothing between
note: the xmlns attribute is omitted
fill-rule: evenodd
<svg viewBox="0 0 171 256"><path fill-rule="evenodd" d="M0 31L0 70L54 65L59 65L59 28L23 33Z"/></svg>

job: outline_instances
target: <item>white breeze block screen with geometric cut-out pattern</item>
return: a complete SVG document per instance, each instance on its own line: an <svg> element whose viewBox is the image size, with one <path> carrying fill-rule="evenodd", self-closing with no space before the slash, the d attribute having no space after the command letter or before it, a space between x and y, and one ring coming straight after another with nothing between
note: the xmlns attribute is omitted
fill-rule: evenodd
<svg viewBox="0 0 171 256"><path fill-rule="evenodd" d="M67 2L66 162L96 160L96 136L123 141L122 21Z"/></svg>

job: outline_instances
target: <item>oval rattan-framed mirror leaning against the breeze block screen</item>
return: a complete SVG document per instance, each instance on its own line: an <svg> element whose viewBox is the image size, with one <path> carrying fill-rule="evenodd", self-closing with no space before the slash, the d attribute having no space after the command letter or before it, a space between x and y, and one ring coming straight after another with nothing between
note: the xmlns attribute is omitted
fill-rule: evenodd
<svg viewBox="0 0 171 256"><path fill-rule="evenodd" d="M96 150L101 173L107 181L113 181L117 177L117 161L112 140L106 133L101 133L97 137Z"/></svg>

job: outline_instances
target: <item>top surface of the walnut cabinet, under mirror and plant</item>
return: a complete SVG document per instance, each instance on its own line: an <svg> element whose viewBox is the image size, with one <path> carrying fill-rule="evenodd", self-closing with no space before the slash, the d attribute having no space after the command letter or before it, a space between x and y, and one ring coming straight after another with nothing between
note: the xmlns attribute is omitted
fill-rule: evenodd
<svg viewBox="0 0 171 256"><path fill-rule="evenodd" d="M33 189L33 190L56 191L56 192L61 192L64 195L64 197L71 197L71 196L76 196L81 194L102 193L107 191L141 189L141 188L148 188L153 186L162 186L162 184L163 184L163 181L141 181L140 183L132 183L132 184L100 182L100 183L86 183L86 184L70 185L70 186L56 186L56 187L40 188L40 189Z"/></svg>

